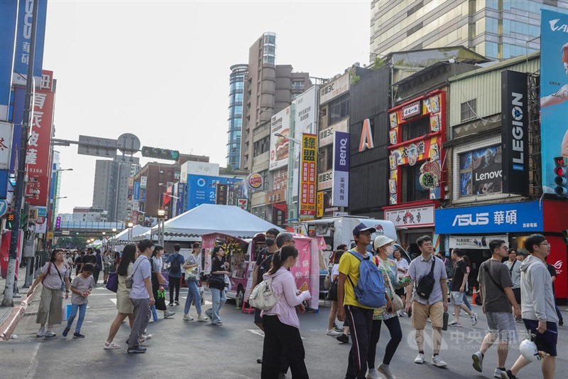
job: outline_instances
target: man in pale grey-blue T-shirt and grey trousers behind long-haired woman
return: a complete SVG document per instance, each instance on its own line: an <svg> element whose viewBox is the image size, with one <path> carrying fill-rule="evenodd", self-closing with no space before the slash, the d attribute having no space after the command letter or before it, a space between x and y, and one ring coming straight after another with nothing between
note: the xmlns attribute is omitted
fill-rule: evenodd
<svg viewBox="0 0 568 379"><path fill-rule="evenodd" d="M152 255L152 247L151 240L142 240L138 243L140 255L132 266L130 299L134 306L134 322L128 341L129 353L146 353L146 348L140 346L140 338L144 329L148 326L148 321L150 321L150 306L155 303L150 279L152 268L150 260L148 260ZM146 339L148 339L148 336L146 336Z"/></svg>

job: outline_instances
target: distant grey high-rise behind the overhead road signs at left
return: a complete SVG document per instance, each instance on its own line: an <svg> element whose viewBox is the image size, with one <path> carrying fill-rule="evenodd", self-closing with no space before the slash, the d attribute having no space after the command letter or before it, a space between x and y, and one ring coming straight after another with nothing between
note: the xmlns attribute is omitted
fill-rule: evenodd
<svg viewBox="0 0 568 379"><path fill-rule="evenodd" d="M97 159L94 171L93 207L106 210L113 220L126 220L131 171L140 168L136 157Z"/></svg>

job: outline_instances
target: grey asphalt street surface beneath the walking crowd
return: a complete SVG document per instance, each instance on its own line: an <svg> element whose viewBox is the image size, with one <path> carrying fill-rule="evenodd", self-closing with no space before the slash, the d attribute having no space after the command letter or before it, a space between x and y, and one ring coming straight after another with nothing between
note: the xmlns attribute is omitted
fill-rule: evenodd
<svg viewBox="0 0 568 379"><path fill-rule="evenodd" d="M183 296L187 289L182 289ZM209 292L206 299L210 300ZM58 378L62 375L75 378L260 378L261 365L256 358L261 356L262 334L253 324L253 315L242 314L229 301L222 309L223 326L182 320L182 306L172 307L177 313L173 319L160 320L148 326L153 334L144 354L126 353L126 338L129 326L123 324L115 341L120 350L103 350L111 321L116 316L115 294L102 286L94 289L89 298L89 308L82 327L84 339L63 338L64 326L56 326L53 338L36 338L38 326L33 312L37 309L39 296L28 307L29 316L24 316L16 328L16 339L0 343L0 378ZM180 299L185 301L185 299ZM323 302L320 301L320 305ZM209 306L206 306L209 307ZM441 356L448 368L430 365L430 338L427 338L425 353L427 363L416 365L413 360L416 348L410 319L402 318L403 341L398 347L391 370L398 379L421 378L492 378L496 367L497 353L486 354L484 375L471 368L471 353L481 343L486 331L486 320L481 309L479 324L472 327L469 318L462 316L462 328L449 327L444 332ZM565 309L566 307L563 307ZM334 337L326 336L329 307L322 306L317 314L300 316L301 333L306 350L306 365L310 378L344 378L350 344L340 344ZM192 309L195 316L195 309ZM568 313L567 313L568 316ZM520 331L520 329L518 329ZM426 329L430 336L430 328ZM567 328L559 329L559 357L557 378L566 378L568 372ZM383 335L378 343L376 363L382 361L384 347L388 342L388 330L383 326ZM507 366L517 358L517 351L510 351ZM532 363L521 372L519 378L541 378L540 367ZM291 376L289 374L289 376Z"/></svg>

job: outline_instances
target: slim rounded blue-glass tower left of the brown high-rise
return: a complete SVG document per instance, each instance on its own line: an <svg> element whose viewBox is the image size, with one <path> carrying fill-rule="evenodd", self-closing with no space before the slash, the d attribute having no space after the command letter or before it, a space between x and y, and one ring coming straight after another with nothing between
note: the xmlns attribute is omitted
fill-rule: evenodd
<svg viewBox="0 0 568 379"><path fill-rule="evenodd" d="M244 81L249 65L232 65L229 76L229 130L226 143L226 166L239 169L241 165L241 130L243 127Z"/></svg>

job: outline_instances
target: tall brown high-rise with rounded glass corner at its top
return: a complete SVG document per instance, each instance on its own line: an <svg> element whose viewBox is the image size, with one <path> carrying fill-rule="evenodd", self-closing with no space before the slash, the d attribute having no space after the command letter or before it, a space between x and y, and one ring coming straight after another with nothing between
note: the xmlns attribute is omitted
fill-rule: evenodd
<svg viewBox="0 0 568 379"><path fill-rule="evenodd" d="M253 144L270 134L269 127L260 128L261 125L267 124L273 114L288 107L297 95L312 85L308 73L293 73L291 65L276 65L275 62L276 35L263 33L249 49L249 75L244 82L241 135L241 169L244 170L253 171L256 154ZM266 129L266 135L258 134L258 129Z"/></svg>

